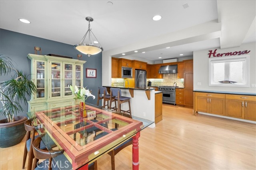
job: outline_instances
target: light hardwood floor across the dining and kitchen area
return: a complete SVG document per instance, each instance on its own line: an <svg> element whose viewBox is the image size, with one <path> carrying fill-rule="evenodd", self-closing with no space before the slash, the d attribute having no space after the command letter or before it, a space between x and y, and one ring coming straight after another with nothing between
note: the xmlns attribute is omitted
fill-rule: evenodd
<svg viewBox="0 0 256 170"><path fill-rule="evenodd" d="M255 170L256 125L163 104L163 120L141 131L140 170ZM20 170L24 141L0 149L1 170ZM115 156L116 170L132 169L132 146ZM27 164L26 164L27 165ZM26 167L25 167L26 168ZM110 156L98 159L110 170Z"/></svg>

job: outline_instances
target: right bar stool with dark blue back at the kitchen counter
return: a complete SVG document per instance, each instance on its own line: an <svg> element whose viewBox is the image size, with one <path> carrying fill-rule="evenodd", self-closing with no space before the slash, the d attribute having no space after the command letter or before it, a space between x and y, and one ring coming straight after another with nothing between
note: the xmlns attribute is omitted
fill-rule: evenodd
<svg viewBox="0 0 256 170"><path fill-rule="evenodd" d="M123 111L124 113L130 113L130 115L132 115L130 98L122 96L120 88L110 88L110 98L112 98L112 96L116 96L114 98L114 101L115 102L117 101L118 107L117 107L117 109L115 109L117 112ZM129 110L127 110L127 111L121 109L121 104L125 103L125 102L128 102L128 104L129 104ZM112 102L110 102L110 108L111 108L111 103Z"/></svg>

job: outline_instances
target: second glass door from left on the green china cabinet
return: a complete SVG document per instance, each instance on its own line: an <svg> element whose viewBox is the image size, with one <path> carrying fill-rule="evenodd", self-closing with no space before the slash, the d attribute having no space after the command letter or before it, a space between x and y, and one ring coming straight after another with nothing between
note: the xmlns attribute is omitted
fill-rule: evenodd
<svg viewBox="0 0 256 170"><path fill-rule="evenodd" d="M62 94L62 62L50 62L51 66L51 92L50 92L50 98L60 98Z"/></svg>

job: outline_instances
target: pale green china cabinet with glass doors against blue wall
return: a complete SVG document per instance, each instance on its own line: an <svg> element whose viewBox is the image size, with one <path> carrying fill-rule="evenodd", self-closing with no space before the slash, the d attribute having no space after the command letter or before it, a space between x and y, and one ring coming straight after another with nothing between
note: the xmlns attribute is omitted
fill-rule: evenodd
<svg viewBox="0 0 256 170"><path fill-rule="evenodd" d="M77 103L70 85L83 87L83 64L86 61L28 54L31 60L31 79L37 93L31 94L28 111L69 106Z"/></svg>

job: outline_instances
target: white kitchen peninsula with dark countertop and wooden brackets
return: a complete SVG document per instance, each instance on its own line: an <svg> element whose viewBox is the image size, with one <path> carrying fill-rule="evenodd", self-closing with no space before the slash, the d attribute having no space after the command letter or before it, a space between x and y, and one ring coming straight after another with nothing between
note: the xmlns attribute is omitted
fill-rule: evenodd
<svg viewBox="0 0 256 170"><path fill-rule="evenodd" d="M150 121L155 122L155 93L161 94L161 92L156 92L155 88L126 88L124 86L103 86L106 87L108 93L110 94L110 88L120 88L122 92L122 96L130 97L130 104L132 115L136 117L141 117L143 119L148 119ZM162 102L158 101L157 107L161 109L162 113ZM129 106L128 103L122 104L123 110L128 110ZM160 113L158 113L158 116ZM162 118L158 117L157 121L162 120ZM149 127L154 128L156 125L153 123Z"/></svg>

